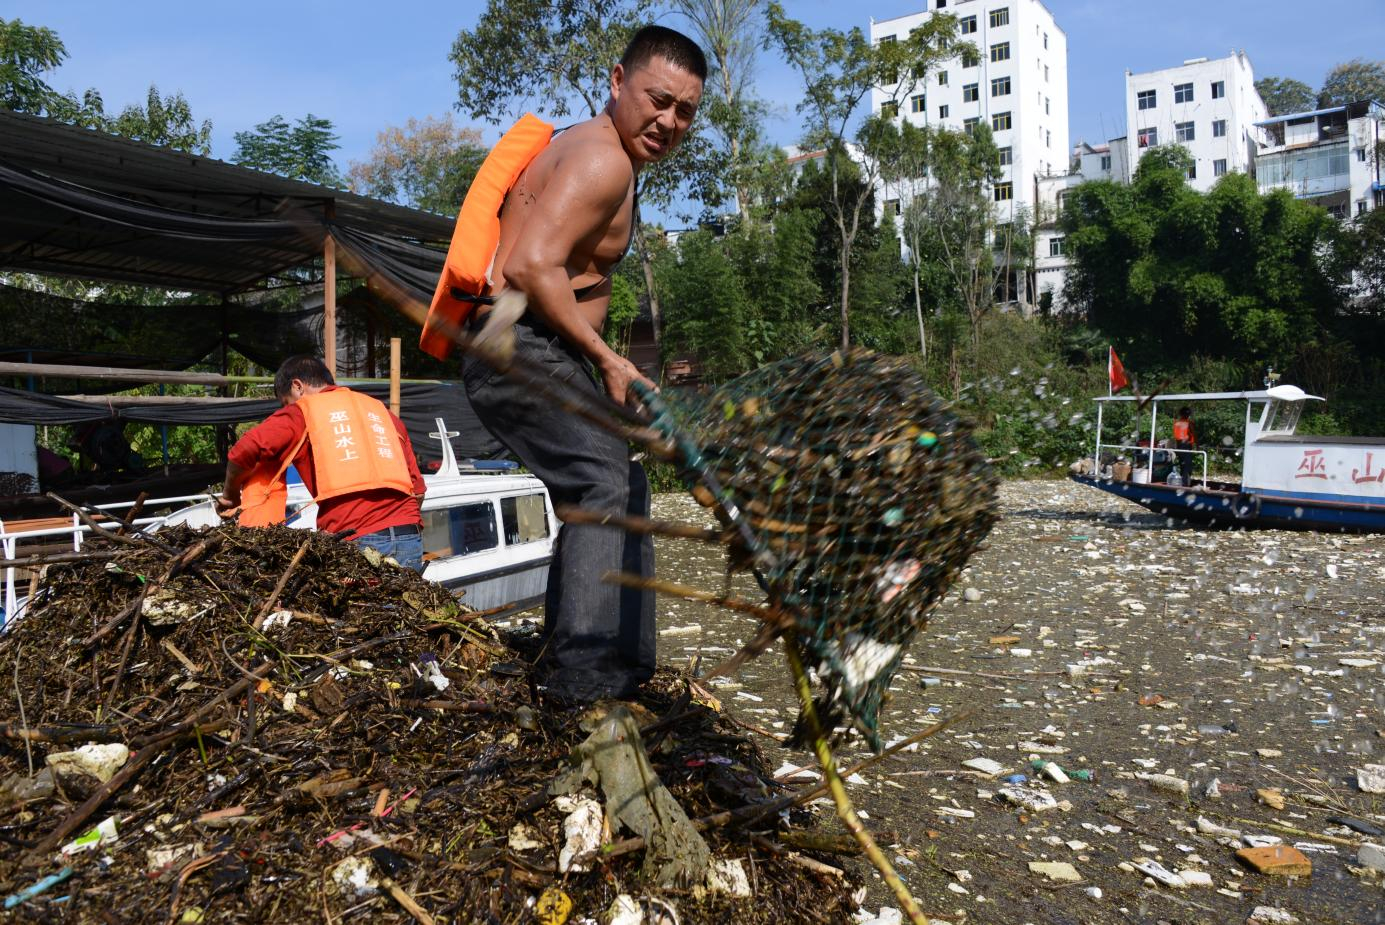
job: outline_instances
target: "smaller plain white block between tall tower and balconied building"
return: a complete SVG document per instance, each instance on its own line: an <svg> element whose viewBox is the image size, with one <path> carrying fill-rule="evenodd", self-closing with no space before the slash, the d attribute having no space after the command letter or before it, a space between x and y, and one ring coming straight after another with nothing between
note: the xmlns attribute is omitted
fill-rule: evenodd
<svg viewBox="0 0 1385 925"><path fill-rule="evenodd" d="M1145 73L1126 71L1125 177L1161 144L1188 150L1194 159L1188 183L1201 192L1233 170L1253 173L1263 138L1259 123L1267 118L1244 51Z"/></svg>

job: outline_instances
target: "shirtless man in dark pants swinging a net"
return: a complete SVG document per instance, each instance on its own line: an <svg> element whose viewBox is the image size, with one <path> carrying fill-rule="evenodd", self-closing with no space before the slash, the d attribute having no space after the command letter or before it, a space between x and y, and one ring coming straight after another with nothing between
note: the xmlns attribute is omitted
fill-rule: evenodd
<svg viewBox="0 0 1385 925"><path fill-rule="evenodd" d="M683 140L702 98L706 60L687 36L662 26L636 33L611 72L605 109L555 136L525 169L500 210L493 291L529 299L515 324L517 354L568 388L632 397L652 385L601 339L611 273L630 246L636 181ZM471 321L474 330L485 316ZM644 469L627 444L553 407L467 357L463 379L482 424L548 487L557 504L648 517ZM654 573L654 544L602 526L565 525L544 602L550 697L629 698L654 674L654 594L601 580L609 571Z"/></svg>

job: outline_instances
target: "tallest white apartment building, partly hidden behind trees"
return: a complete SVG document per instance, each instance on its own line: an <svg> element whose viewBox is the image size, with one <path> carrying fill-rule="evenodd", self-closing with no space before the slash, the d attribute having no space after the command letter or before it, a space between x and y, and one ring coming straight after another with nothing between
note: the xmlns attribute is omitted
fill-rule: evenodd
<svg viewBox="0 0 1385 925"><path fill-rule="evenodd" d="M975 54L946 61L909 93L877 87L871 112L893 111L915 125L954 132L985 122L1000 148L1003 176L994 184L996 220L1035 209L1035 177L1068 169L1068 36L1040 0L922 0L922 10L871 21L873 43L909 36L931 17L957 17L961 39ZM909 199L885 190L882 201Z"/></svg>

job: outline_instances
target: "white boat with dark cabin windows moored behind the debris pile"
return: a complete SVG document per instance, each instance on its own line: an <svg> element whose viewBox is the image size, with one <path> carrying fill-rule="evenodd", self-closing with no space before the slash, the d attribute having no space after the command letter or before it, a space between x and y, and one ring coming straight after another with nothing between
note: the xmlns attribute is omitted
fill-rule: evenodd
<svg viewBox="0 0 1385 925"><path fill-rule="evenodd" d="M453 436L442 418L436 418L438 432L428 436L442 442L442 464L438 472L424 476L427 492L422 501L424 577L463 595L463 601L478 611L494 616L524 611L543 601L548 584L548 564L558 533L553 501L543 482L515 471L514 462L472 461L458 464L452 449ZM314 529L317 505L292 472L288 486L288 526ZM209 494L154 499L145 503L158 510L170 503L193 501L168 517L140 518L136 525L145 529L187 525L216 526L215 499ZM100 505L116 514L130 504ZM18 529L14 529L18 528ZM44 525L25 529L0 522L0 566L4 559L22 558L35 544L51 546L62 541L80 551L90 528L72 515L71 523ZM7 568L4 600L0 607L0 630L7 619L24 613L29 579L19 569Z"/></svg>

